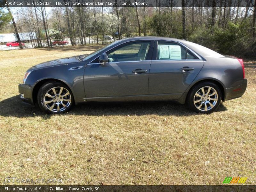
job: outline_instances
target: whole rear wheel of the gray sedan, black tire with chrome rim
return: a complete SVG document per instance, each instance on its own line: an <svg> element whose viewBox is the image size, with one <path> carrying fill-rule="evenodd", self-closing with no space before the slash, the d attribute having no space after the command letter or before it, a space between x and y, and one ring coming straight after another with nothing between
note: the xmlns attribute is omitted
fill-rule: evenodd
<svg viewBox="0 0 256 192"><path fill-rule="evenodd" d="M208 89L207 89L207 87L208 87ZM211 90L207 94L209 87L211 87ZM202 90L202 88L204 90ZM203 91L204 91L204 94L203 94ZM211 94L214 93L214 91L216 91L217 94L210 96ZM198 95L202 95L202 96L199 97ZM211 97L213 97L213 98L211 98ZM194 100L196 103L194 103ZM188 100L187 100L188 106L190 109L192 109L193 111L196 111L197 113L204 113L204 114L209 114L209 113L212 113L213 111L215 111L219 107L220 101L221 101L220 88L218 85L216 85L212 82L203 82L203 83L200 83L200 84L197 84L196 86L194 86L189 91ZM206 110L205 110L205 105L206 105Z"/></svg>

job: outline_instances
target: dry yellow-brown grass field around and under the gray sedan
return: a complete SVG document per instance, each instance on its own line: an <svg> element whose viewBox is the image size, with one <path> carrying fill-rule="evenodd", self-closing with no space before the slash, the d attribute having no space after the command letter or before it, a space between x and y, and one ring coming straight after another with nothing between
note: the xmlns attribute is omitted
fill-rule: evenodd
<svg viewBox="0 0 256 192"><path fill-rule="evenodd" d="M256 63L242 98L199 115L170 102L95 103L46 115L21 103L18 84L40 62L97 46L0 51L0 178L61 184L219 185L256 170Z"/></svg>

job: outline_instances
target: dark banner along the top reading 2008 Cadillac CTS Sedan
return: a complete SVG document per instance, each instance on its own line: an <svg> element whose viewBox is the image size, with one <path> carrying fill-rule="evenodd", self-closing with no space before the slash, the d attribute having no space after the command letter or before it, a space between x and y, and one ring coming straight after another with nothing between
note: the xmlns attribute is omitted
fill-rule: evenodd
<svg viewBox="0 0 256 192"><path fill-rule="evenodd" d="M256 0L0 0L9 7L253 7Z"/></svg>

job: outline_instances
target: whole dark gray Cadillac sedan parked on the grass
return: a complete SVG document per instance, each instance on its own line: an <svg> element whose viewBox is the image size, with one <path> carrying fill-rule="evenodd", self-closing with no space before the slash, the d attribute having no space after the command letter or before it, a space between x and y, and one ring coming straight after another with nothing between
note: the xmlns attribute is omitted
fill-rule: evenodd
<svg viewBox="0 0 256 192"><path fill-rule="evenodd" d="M176 100L211 113L246 89L243 60L165 37L116 41L89 55L38 64L19 85L21 99L52 114L92 101Z"/></svg>

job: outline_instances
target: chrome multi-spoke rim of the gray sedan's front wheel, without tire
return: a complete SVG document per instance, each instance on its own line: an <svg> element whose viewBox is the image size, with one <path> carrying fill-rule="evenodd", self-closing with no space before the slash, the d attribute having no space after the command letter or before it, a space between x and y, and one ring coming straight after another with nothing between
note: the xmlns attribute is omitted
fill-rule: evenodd
<svg viewBox="0 0 256 192"><path fill-rule="evenodd" d="M44 106L52 112L61 112L71 104L71 94L64 87L53 87L44 95Z"/></svg>

